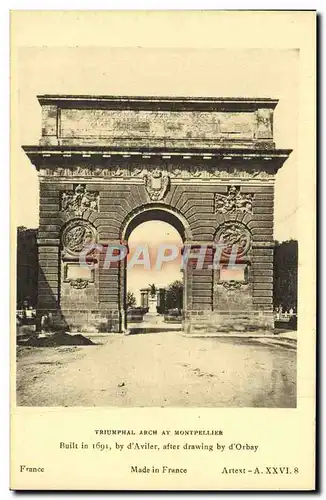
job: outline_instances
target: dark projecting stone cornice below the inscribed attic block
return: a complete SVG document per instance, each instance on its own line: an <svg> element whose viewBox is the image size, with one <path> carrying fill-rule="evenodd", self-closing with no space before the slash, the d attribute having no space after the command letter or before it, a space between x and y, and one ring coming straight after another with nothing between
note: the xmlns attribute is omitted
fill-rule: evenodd
<svg viewBox="0 0 326 500"><path fill-rule="evenodd" d="M206 151L189 150L119 150L100 147L58 147L58 146L23 146L23 149L37 169L63 168L80 166L90 169L112 169L121 167L155 166L166 168L167 165L179 167L180 170L192 168L223 170L225 167L239 170L268 170L276 173L291 153L289 149L271 149L248 151L246 149L230 150L225 148Z"/></svg>

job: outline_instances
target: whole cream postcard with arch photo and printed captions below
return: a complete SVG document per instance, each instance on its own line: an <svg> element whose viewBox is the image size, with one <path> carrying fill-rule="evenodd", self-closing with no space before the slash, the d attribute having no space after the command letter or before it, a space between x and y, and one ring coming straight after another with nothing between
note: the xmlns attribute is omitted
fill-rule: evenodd
<svg viewBox="0 0 326 500"><path fill-rule="evenodd" d="M316 12L10 29L10 488L314 491Z"/></svg>

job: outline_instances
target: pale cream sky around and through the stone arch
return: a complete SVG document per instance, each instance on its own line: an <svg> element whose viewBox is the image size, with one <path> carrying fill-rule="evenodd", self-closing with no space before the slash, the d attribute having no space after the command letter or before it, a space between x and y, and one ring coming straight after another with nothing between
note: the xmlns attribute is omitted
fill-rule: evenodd
<svg viewBox="0 0 326 500"><path fill-rule="evenodd" d="M300 53L294 49L17 48L12 55L14 224L38 226L38 179L21 149L38 144L41 135L38 94L270 97L279 99L276 147L293 149L276 176L274 237L296 238L299 64ZM131 238L144 241L151 224L157 228L158 222L136 228ZM178 237L171 226L168 231ZM164 284L163 277L157 280ZM141 286L148 282L153 277L144 277Z"/></svg>

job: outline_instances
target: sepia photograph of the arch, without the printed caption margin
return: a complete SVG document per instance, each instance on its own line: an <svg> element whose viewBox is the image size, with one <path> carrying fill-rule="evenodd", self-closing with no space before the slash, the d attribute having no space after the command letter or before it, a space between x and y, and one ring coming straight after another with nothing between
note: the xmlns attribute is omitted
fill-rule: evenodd
<svg viewBox="0 0 326 500"><path fill-rule="evenodd" d="M17 405L296 408L300 51L15 64Z"/></svg>

